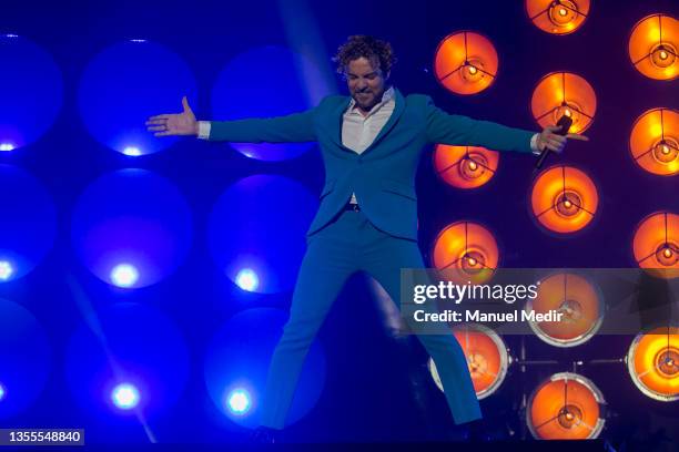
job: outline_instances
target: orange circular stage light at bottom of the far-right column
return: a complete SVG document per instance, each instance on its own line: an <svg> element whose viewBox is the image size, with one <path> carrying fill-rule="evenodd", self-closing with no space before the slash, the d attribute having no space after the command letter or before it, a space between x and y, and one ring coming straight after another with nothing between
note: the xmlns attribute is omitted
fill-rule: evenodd
<svg viewBox="0 0 679 452"><path fill-rule="evenodd" d="M679 400L679 328L658 327L637 335L627 352L627 370L651 399Z"/></svg>

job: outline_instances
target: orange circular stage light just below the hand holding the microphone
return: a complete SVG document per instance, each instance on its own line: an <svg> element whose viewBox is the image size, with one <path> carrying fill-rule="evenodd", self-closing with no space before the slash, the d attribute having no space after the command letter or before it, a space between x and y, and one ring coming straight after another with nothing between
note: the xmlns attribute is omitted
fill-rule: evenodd
<svg viewBox="0 0 679 452"><path fill-rule="evenodd" d="M560 234L582 229L594 218L599 195L594 182L580 170L554 166L533 184L530 206L535 218Z"/></svg>

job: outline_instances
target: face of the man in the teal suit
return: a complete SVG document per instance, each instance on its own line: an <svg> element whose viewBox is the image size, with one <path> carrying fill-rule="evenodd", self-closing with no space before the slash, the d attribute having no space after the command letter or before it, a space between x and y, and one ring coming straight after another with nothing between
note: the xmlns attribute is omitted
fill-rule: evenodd
<svg viewBox="0 0 679 452"><path fill-rule="evenodd" d="M371 111L382 100L388 73L385 75L378 64L361 56L349 61L345 75L349 93L361 110Z"/></svg>

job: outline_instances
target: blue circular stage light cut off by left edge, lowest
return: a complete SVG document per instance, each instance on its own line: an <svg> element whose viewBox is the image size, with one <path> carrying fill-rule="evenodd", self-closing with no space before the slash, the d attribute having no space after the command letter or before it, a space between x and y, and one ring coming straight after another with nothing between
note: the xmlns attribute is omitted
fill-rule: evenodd
<svg viewBox="0 0 679 452"><path fill-rule="evenodd" d="M48 337L24 307L0 298L0 420L28 409L50 372Z"/></svg>

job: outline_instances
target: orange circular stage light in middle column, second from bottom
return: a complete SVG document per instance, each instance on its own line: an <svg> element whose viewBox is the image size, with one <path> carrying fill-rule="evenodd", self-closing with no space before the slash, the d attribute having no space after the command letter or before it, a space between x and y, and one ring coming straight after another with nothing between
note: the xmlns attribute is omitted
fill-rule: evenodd
<svg viewBox="0 0 679 452"><path fill-rule="evenodd" d="M549 345L575 347L587 342L601 326L604 299L582 276L561 273L540 280L537 297L526 302L525 310L561 314L560 321L529 321L530 328Z"/></svg>

